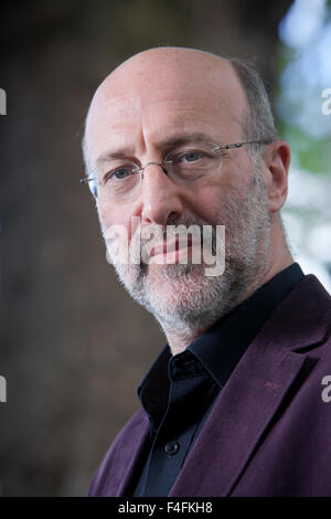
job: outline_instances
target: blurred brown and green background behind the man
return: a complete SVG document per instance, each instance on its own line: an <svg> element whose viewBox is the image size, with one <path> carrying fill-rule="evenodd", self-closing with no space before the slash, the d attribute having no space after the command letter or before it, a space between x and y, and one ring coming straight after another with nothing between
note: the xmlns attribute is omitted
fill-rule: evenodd
<svg viewBox="0 0 331 519"><path fill-rule="evenodd" d="M92 95L131 54L181 45L255 60L292 148L292 252L330 290L330 11L327 0L2 1L3 496L84 495L166 342L116 280L78 183Z"/></svg>

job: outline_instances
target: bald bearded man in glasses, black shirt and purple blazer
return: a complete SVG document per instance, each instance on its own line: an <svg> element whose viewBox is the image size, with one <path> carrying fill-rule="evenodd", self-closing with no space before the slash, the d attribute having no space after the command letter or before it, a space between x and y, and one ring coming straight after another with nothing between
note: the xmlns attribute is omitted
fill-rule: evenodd
<svg viewBox="0 0 331 519"><path fill-rule="evenodd" d="M286 242L290 151L258 75L134 55L93 98L84 156L108 258L167 337L88 495L331 496L330 296Z"/></svg>

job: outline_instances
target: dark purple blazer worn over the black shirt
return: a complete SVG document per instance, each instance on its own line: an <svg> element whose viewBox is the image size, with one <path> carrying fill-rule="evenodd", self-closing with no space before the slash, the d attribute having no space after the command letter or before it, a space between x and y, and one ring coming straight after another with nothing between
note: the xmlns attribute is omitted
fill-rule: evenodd
<svg viewBox="0 0 331 519"><path fill-rule="evenodd" d="M322 399L330 325L331 297L308 275L242 357L169 496L331 497L331 402ZM88 496L126 496L148 435L139 410L116 436Z"/></svg>

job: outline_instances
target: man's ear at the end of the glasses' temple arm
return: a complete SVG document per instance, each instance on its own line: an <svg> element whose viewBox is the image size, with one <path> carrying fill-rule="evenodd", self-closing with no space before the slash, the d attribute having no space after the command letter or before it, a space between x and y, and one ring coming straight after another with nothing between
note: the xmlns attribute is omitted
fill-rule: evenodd
<svg viewBox="0 0 331 519"><path fill-rule="evenodd" d="M290 157L290 148L285 140L271 142L265 151L266 184L273 213L279 211L286 201Z"/></svg>

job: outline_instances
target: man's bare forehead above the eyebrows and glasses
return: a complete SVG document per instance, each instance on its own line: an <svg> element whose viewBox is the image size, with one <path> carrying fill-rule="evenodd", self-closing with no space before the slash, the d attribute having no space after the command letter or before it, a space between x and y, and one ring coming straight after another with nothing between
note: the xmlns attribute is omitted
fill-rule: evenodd
<svg viewBox="0 0 331 519"><path fill-rule="evenodd" d="M214 139L237 139L246 99L233 71L205 74L127 74L95 96L86 125L89 157L120 147L142 152L162 147L180 133L201 131Z"/></svg>

